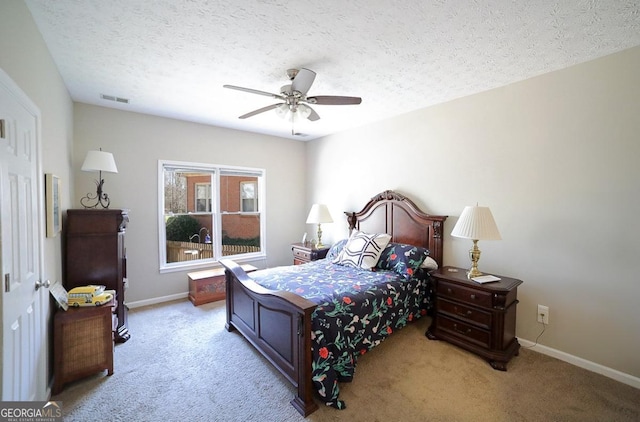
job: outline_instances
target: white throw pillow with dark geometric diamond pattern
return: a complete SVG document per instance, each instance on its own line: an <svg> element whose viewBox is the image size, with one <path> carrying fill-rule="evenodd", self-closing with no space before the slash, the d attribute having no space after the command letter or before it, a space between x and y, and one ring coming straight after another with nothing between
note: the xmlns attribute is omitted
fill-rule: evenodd
<svg viewBox="0 0 640 422"><path fill-rule="evenodd" d="M354 230L347 244L332 262L347 267L371 270L390 240L391 235L388 234L369 234Z"/></svg>

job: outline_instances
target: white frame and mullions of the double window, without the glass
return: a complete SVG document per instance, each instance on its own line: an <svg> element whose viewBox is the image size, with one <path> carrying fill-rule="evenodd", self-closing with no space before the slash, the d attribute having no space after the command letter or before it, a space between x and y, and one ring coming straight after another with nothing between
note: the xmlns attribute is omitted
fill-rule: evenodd
<svg viewBox="0 0 640 422"><path fill-rule="evenodd" d="M166 224L165 224L165 208L164 208L164 171L165 168L180 168L193 171L205 171L213 173L212 183L215 186L211 198L211 214L213 218L213 226L215 233L211 233L214 239L213 258L199 259L195 261L171 262L167 263L167 245L166 245ZM257 201L258 209L253 214L260 215L260 252L251 252L238 255L229 255L224 258L231 258L236 262L248 262L254 260L266 260L266 201L265 201L265 185L266 170L251 167L226 166L219 164L195 163L186 161L158 160L158 252L160 258L160 273L184 271L186 269L211 268L212 265L217 266L218 260L222 257L222 215L226 212L220 212L220 175L251 175L258 177L257 182ZM198 214L198 213L195 213ZM209 214L209 212L207 212Z"/></svg>

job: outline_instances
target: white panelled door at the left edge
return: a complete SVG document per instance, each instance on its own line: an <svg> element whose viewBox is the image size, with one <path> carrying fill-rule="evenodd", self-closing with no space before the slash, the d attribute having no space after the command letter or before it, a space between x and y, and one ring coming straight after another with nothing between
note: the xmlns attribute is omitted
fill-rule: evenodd
<svg viewBox="0 0 640 422"><path fill-rule="evenodd" d="M47 397L49 291L42 272L42 185L37 107L0 69L0 218L3 401Z"/></svg>

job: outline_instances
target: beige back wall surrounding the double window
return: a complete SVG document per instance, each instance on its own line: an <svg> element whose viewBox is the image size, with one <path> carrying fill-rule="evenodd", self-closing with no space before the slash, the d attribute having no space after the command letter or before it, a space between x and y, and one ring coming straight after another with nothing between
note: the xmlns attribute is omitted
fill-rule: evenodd
<svg viewBox="0 0 640 422"><path fill-rule="evenodd" d="M110 208L130 209L127 229L127 302L186 293L187 271L159 273L158 160L266 169L267 265L292 263L305 210L305 144L77 103L73 171L76 195L95 193L96 173L80 171L86 152L113 153L118 173L103 173Z"/></svg>

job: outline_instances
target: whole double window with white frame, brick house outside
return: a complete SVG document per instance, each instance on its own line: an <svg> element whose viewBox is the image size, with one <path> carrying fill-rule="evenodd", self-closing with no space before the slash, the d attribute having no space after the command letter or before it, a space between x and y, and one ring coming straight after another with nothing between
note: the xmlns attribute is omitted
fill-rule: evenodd
<svg viewBox="0 0 640 422"><path fill-rule="evenodd" d="M264 256L264 173L159 161L160 270Z"/></svg>

